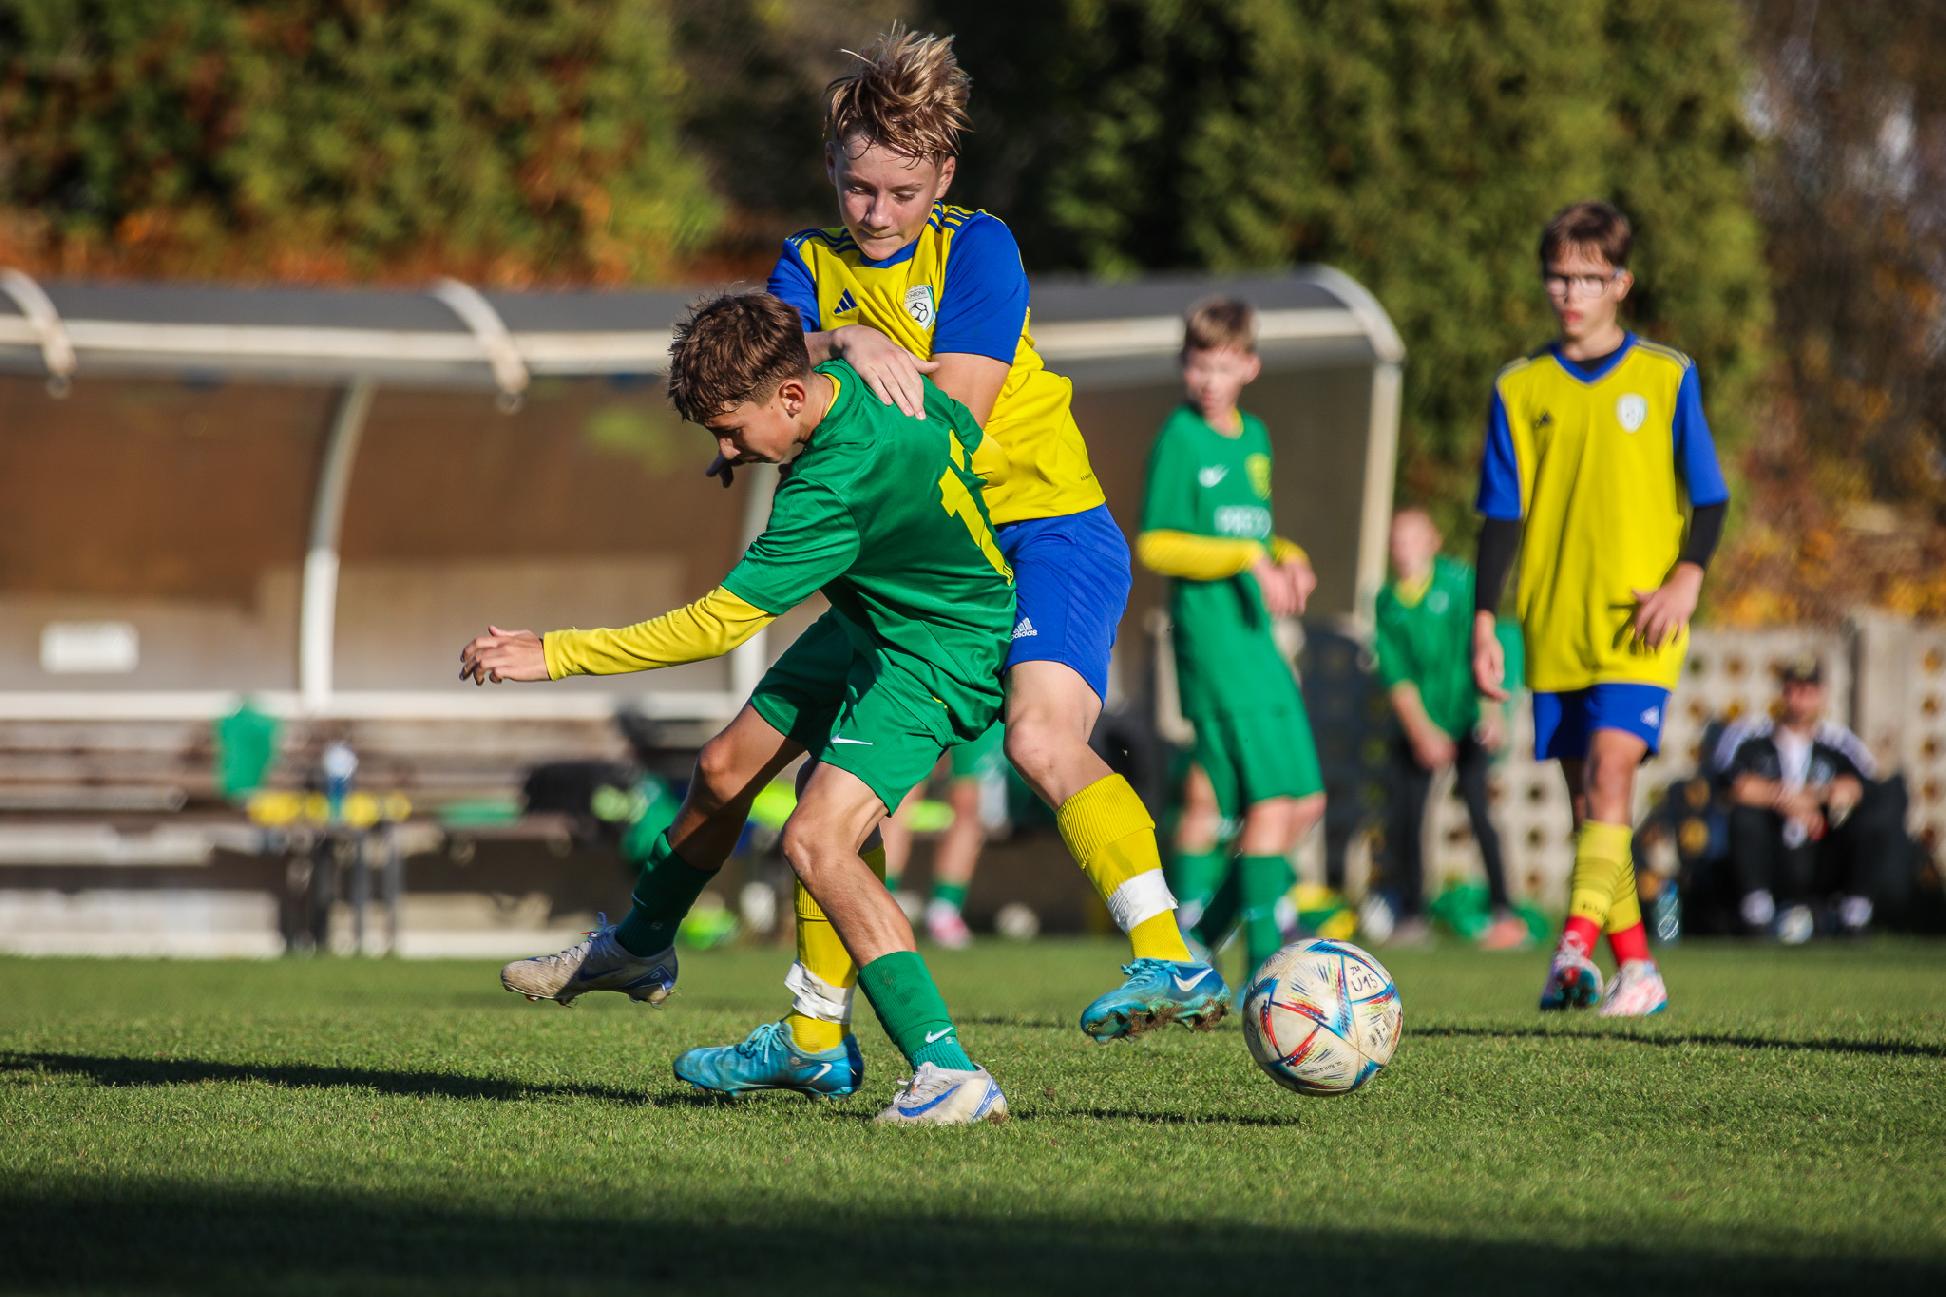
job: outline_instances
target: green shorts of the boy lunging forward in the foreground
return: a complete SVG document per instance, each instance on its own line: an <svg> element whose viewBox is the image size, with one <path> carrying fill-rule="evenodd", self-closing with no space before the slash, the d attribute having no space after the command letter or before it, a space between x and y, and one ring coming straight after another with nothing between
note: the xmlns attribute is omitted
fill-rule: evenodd
<svg viewBox="0 0 1946 1297"><path fill-rule="evenodd" d="M829 611L763 674L749 705L813 761L856 775L887 812L954 742L946 709L876 656L862 654ZM926 724L928 711L938 713Z"/></svg>

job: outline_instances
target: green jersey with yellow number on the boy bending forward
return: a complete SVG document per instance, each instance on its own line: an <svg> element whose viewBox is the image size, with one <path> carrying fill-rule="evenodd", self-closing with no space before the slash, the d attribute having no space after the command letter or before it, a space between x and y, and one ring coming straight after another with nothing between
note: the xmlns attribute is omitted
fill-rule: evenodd
<svg viewBox="0 0 1946 1297"><path fill-rule="evenodd" d="M724 588L769 613L823 590L852 650L920 724L977 738L1000 705L1014 625L1014 574L967 467L979 423L930 382L926 417L909 419L843 360L817 372L837 399Z"/></svg>

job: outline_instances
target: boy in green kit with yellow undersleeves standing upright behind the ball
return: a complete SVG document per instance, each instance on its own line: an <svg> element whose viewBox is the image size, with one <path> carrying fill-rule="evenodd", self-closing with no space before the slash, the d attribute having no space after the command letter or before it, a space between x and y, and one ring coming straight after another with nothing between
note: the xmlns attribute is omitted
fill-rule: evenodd
<svg viewBox="0 0 1946 1297"><path fill-rule="evenodd" d="M1247 304L1191 308L1187 399L1156 434L1136 541L1142 565L1171 578L1175 666L1197 765L1222 818L1242 820L1228 888L1232 863L1212 828L1185 818L1175 890L1210 948L1242 911L1247 974L1280 945L1277 902L1290 888L1290 851L1325 810L1304 697L1273 621L1300 613L1317 578L1300 547L1271 534L1271 436L1238 409L1257 372ZM1212 904L1232 892L1236 904Z"/></svg>

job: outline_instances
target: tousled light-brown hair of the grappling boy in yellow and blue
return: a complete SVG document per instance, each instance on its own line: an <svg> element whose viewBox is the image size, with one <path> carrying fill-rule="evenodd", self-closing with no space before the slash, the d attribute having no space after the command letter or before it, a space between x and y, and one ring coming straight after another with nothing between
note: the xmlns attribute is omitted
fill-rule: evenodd
<svg viewBox="0 0 1946 1297"><path fill-rule="evenodd" d="M825 138L862 134L905 158L952 158L967 125L973 78L954 58L954 39L893 23L858 66L825 86Z"/></svg>

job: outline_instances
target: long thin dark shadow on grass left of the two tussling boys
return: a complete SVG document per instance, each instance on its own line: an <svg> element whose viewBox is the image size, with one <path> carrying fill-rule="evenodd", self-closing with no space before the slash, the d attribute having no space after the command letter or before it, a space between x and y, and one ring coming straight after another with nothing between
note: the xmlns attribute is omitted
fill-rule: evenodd
<svg viewBox="0 0 1946 1297"><path fill-rule="evenodd" d="M448 1071L387 1071L379 1067L323 1067L313 1063L216 1063L200 1057L109 1057L95 1054L25 1054L0 1050L0 1071L56 1071L82 1075L95 1085L197 1085L202 1081L263 1081L292 1089L370 1089L381 1094L436 1098L599 1098L611 1104L658 1104L646 1089L611 1085L551 1085L467 1077ZM689 1098L664 1094L660 1098Z"/></svg>

